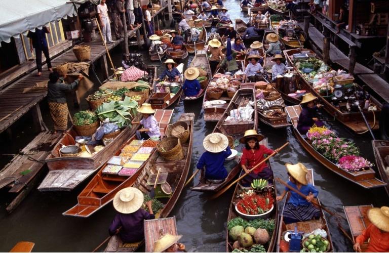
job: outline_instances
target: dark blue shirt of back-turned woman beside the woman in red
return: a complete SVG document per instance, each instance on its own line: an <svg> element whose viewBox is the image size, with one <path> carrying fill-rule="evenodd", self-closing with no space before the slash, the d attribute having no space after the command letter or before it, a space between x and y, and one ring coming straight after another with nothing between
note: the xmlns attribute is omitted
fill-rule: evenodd
<svg viewBox="0 0 389 253"><path fill-rule="evenodd" d="M227 146L226 150L219 153L211 153L205 151L199 162L197 163L197 168L202 170L205 166L205 178L222 180L225 179L228 175L227 170L224 167L225 158L232 154L231 149Z"/></svg>

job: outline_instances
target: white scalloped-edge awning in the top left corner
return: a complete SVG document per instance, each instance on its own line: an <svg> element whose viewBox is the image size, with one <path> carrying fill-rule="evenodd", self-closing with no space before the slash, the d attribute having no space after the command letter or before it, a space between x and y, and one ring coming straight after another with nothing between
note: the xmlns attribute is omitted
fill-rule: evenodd
<svg viewBox="0 0 389 253"><path fill-rule="evenodd" d="M77 15L83 1L69 0L11 0L0 5L0 42L9 43L11 37L19 37L43 25Z"/></svg>

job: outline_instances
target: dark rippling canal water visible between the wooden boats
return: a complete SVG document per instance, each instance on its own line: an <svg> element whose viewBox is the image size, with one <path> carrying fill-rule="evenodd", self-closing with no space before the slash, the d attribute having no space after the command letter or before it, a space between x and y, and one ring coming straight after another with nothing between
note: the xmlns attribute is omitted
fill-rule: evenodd
<svg viewBox="0 0 389 253"><path fill-rule="evenodd" d="M229 10L231 19L242 18L239 1L226 0L224 2ZM247 20L247 19L246 19ZM248 46L248 45L247 45ZM131 52L138 52L131 49ZM143 53L147 58L146 51ZM115 66L121 65L121 51L113 51L113 61ZM184 60L184 64L189 65L193 56ZM151 64L160 65L160 62ZM159 72L162 68L159 68ZM101 73L98 73L99 75ZM97 80L95 80L97 83ZM45 121L51 126L45 102L42 103ZM86 109L87 104L82 104L81 109ZM189 175L196 171L196 163L204 152L203 139L210 134L214 124L205 123L203 120L202 101L192 101L188 103L180 102L174 106L172 122L179 118L181 113L195 113L195 140L193 141L193 151ZM73 110L72 110L73 111ZM324 118L330 116L326 113L321 115ZM32 139L32 131L28 125L30 119L26 118L14 132L14 139L10 142L10 147L2 145L2 153L16 152L21 144L28 143ZM374 161L371 147L371 137L366 134L357 136L345 129L339 122L326 122L326 125L334 130L338 136L354 140L361 149L363 156L370 161ZM319 198L322 204L333 212L344 217L343 206L374 204L375 206L387 205L387 196L383 189L365 190L341 177L335 175L323 167L312 156L310 156L296 141L291 129L274 130L269 126L260 123L258 132L263 134L270 148L277 147L289 141L290 144L277 156L271 158L271 167L276 177L287 180L285 163L302 162L308 168L314 169L315 185L319 189ZM7 150L7 152L5 151ZM10 151L11 150L11 151ZM9 158L8 158L9 160ZM2 158L2 163L7 158ZM194 182L197 183L197 177ZM34 251L55 252L55 251L91 251L108 236L108 226L115 215L112 204L108 204L99 212L87 219L64 217L62 213L76 204L77 194L85 187L83 184L73 192L39 192L34 189L27 198L20 204L14 213L8 215L5 207L10 199L6 191L0 192L0 251L8 251L18 241L35 242ZM177 227L183 235L181 242L186 245L188 251L198 252L224 252L225 251L225 229L228 215L228 207L231 200L233 188L215 200L209 200L208 195L193 192L185 188L176 203L171 216L175 216ZM278 194L283 191L283 187L277 185ZM280 204L282 206L282 203ZM336 251L353 251L352 244L342 235L337 228L337 220L326 214L329 222L330 233ZM347 223L341 220L341 225L348 230ZM101 248L100 250L103 250Z"/></svg>

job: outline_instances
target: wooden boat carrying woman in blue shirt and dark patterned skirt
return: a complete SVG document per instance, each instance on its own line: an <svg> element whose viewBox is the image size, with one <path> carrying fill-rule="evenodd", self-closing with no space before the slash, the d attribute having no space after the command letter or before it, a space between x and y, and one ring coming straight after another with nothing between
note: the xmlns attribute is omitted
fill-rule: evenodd
<svg viewBox="0 0 389 253"><path fill-rule="evenodd" d="M308 173L307 173L306 177L307 177L308 183L315 185L314 173L313 173L312 168L308 169ZM334 252L334 246L332 244L330 230L329 230L328 223L327 223L326 217L325 217L322 209L320 210L320 218L318 220L303 221L303 222L297 222L297 223L291 223L291 224L284 223L284 216L283 216L284 208L285 208L286 203L288 203L288 199L290 198L290 195L291 194L289 191L286 195L286 200L285 200L284 206L282 207L281 219L280 219L279 229L278 229L278 234L277 234L276 252L282 252L280 250L281 243L287 244L288 248L289 248L289 243L284 240L284 233L288 230L294 231L295 227L297 227L297 231L299 233L303 233L303 234L310 233L316 229L325 230L327 232L326 239L329 241L329 245L330 245L330 249L327 252ZM317 202L320 204L319 198L317 198ZM284 250L286 250L286 252L288 252L288 249L284 249Z"/></svg>

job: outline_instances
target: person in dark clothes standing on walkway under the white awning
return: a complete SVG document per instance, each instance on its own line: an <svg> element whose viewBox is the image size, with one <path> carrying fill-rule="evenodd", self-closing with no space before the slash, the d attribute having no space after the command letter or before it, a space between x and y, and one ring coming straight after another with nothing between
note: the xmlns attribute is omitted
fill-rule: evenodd
<svg viewBox="0 0 389 253"><path fill-rule="evenodd" d="M42 52L46 57L47 68L49 71L53 71L51 67L49 47L47 45L46 33L50 33L49 28L43 26L42 29L36 28L34 32L28 31L27 37L30 39L30 50L31 53L35 49L35 62L38 68L37 76L42 75Z"/></svg>

